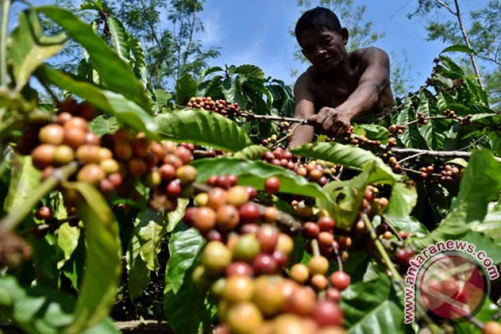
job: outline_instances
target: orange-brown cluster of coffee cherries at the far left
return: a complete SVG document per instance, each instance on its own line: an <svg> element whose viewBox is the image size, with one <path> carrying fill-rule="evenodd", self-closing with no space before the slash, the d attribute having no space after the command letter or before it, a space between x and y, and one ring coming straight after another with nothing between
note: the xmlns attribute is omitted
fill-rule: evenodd
<svg viewBox="0 0 501 334"><path fill-rule="evenodd" d="M134 134L126 129L100 138L89 130L88 119L96 114L88 102L77 104L73 99L65 99L56 122L36 132L35 147L27 152L32 155L34 167L47 178L54 169L76 161L77 181L93 184L105 195L117 191L121 198L133 198L134 182L139 178L152 189L150 204L174 210L176 198L189 195L187 189L196 178L196 169L188 165L193 154L187 145L192 144L156 143L143 132ZM33 132L25 135L33 136ZM24 141L23 135L21 143ZM65 204L78 204L78 193L69 190L62 193Z"/></svg>

